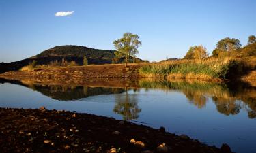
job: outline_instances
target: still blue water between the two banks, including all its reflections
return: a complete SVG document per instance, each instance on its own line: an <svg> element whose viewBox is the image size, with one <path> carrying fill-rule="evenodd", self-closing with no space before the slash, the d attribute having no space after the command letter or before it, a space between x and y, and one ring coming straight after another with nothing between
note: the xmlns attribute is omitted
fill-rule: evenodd
<svg viewBox="0 0 256 153"><path fill-rule="evenodd" d="M44 106L110 116L164 126L211 146L227 143L233 152L256 152L256 88L243 82L137 80L122 88L0 82L0 107Z"/></svg>

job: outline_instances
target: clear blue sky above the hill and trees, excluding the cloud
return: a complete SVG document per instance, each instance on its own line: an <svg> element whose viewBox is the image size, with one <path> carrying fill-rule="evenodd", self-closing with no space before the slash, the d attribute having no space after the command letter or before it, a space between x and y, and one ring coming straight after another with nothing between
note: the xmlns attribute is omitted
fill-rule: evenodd
<svg viewBox="0 0 256 153"><path fill-rule="evenodd" d="M0 62L18 61L59 45L113 50L125 32L142 41L139 58L182 58L189 46L212 52L218 40L245 45L256 35L256 1L0 0ZM74 11L70 16L57 12Z"/></svg>

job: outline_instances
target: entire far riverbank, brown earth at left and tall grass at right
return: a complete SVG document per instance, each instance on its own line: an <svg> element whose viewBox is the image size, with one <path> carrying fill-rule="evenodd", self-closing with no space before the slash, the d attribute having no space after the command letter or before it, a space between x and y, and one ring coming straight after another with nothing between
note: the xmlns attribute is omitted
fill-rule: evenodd
<svg viewBox="0 0 256 153"><path fill-rule="evenodd" d="M11 80L31 80L38 82L81 82L81 80L115 78L182 78L223 82L227 80L256 80L256 58L236 59L210 58L207 60L177 60L160 63L130 63L87 65L73 67L41 67L27 71L1 73L0 77ZM254 73L253 73L254 74Z"/></svg>

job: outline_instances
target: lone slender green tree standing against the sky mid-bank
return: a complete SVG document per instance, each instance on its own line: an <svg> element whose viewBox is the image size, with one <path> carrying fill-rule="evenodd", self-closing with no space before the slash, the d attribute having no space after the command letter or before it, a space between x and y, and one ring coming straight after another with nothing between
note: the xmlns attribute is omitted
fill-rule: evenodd
<svg viewBox="0 0 256 153"><path fill-rule="evenodd" d="M139 35L124 33L123 37L115 40L113 44L117 49L115 56L125 58L125 66L127 67L128 58L130 58L130 56L136 57L136 54L138 54L137 48L141 46L141 41L139 41Z"/></svg>

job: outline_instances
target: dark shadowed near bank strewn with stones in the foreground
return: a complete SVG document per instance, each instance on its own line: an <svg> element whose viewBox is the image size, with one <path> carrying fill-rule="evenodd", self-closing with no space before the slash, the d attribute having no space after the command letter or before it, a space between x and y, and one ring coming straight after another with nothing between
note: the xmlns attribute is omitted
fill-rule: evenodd
<svg viewBox="0 0 256 153"><path fill-rule="evenodd" d="M91 114L0 108L1 152L229 152L164 128Z"/></svg>

